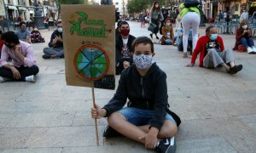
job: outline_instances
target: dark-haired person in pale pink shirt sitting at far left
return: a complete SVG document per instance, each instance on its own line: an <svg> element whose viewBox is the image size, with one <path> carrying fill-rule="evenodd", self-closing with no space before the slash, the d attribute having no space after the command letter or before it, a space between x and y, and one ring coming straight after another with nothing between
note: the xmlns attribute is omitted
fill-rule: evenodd
<svg viewBox="0 0 256 153"><path fill-rule="evenodd" d="M35 82L34 76L39 68L33 54L32 45L19 38L14 31L4 32L1 36L4 42L0 59L0 82L15 80L20 82ZM7 60L12 59L12 65Z"/></svg>

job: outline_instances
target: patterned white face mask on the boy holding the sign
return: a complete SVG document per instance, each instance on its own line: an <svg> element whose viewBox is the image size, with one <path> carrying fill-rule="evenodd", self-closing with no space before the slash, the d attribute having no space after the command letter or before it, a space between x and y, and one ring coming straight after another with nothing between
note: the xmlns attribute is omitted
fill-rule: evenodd
<svg viewBox="0 0 256 153"><path fill-rule="evenodd" d="M135 54L133 56L133 62L137 65L139 69L147 69L152 65L152 54L145 55L145 54Z"/></svg>

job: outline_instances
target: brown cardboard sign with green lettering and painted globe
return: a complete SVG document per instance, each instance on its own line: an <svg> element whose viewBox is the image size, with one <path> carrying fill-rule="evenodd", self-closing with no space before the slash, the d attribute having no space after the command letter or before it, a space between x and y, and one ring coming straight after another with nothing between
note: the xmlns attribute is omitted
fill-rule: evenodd
<svg viewBox="0 0 256 153"><path fill-rule="evenodd" d="M66 82L114 89L115 8L61 5Z"/></svg>

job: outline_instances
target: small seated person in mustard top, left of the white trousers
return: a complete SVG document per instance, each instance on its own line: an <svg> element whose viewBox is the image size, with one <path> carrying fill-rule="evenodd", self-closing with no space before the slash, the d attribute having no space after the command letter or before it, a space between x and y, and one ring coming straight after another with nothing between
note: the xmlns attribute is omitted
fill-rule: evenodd
<svg viewBox="0 0 256 153"><path fill-rule="evenodd" d="M163 37L161 38L161 44L170 45L174 42L174 34L172 28L172 20L167 18L164 22L164 26L161 29Z"/></svg>

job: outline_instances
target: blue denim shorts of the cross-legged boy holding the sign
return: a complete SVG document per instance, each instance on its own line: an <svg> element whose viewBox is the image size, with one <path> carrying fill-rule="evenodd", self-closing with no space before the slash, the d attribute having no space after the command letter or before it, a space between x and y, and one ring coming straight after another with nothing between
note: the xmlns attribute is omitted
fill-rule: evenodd
<svg viewBox="0 0 256 153"><path fill-rule="evenodd" d="M154 116L154 110L142 110L134 107L125 107L122 110L119 110L123 116L125 116L127 122L130 122L136 126L150 125L151 118ZM175 122L173 117L166 113L166 120Z"/></svg>

